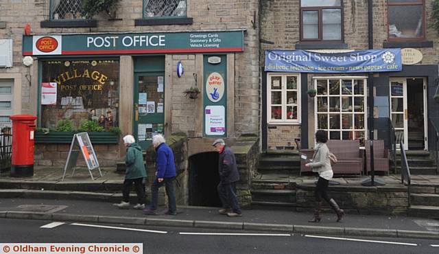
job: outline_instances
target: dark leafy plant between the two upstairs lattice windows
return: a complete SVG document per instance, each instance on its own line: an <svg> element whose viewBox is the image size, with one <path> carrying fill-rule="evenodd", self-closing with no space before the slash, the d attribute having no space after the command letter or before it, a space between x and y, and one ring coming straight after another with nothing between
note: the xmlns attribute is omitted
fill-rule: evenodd
<svg viewBox="0 0 439 254"><path fill-rule="evenodd" d="M86 19L93 19L93 16L104 11L111 19L115 19L117 5L121 0L82 0L81 13Z"/></svg>

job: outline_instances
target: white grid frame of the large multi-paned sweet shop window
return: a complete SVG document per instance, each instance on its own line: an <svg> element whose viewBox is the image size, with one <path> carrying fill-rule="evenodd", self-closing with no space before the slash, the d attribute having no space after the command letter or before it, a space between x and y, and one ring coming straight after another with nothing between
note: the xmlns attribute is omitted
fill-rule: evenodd
<svg viewBox="0 0 439 254"><path fill-rule="evenodd" d="M322 114L322 113L326 113L328 115L328 128L327 128L327 132L328 132L328 139L329 139L329 132L331 132L331 130L333 131L340 131L340 140L343 140L343 135L342 135L342 131L352 131L353 132L353 140L355 139L355 132L356 131L364 131L364 140L368 139L368 107L367 107L367 100L368 100L368 85L367 85L367 77L366 76L324 76L324 77L313 77L313 87L314 89L317 90L317 81L318 80L340 80L340 89L342 89L342 80L363 80L364 84L363 84L363 91L364 94L363 95L342 95L341 90L340 90L340 94L338 95L320 95L320 97L328 97L328 109L327 112L318 112L318 105L317 105L317 98L319 97L319 95L317 94L316 97L314 97L314 130L318 130L318 113ZM354 84L354 83L352 83ZM354 87L352 87L353 91L354 91ZM343 117L342 114L346 112L343 112L343 107L340 104L340 111L339 112L329 112L329 97L343 97L343 96L348 96L348 97L363 97L364 98L364 129L355 129L355 116L352 119L352 124L353 124L353 128L351 129L343 129L342 128L342 121L343 121ZM340 101L341 102L341 101ZM354 103L354 102L353 102ZM353 104L354 106L354 104ZM340 114L340 129L331 129L329 128L329 115L330 114ZM355 111L352 112L353 115L355 115ZM357 113L358 114L358 113Z"/></svg>

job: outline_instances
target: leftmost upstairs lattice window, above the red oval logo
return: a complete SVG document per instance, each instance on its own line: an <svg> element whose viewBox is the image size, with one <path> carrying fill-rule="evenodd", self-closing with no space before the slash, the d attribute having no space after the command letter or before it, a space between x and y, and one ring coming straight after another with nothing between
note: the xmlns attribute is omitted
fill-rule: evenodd
<svg viewBox="0 0 439 254"><path fill-rule="evenodd" d="M51 20L84 19L81 14L82 0L51 0Z"/></svg>

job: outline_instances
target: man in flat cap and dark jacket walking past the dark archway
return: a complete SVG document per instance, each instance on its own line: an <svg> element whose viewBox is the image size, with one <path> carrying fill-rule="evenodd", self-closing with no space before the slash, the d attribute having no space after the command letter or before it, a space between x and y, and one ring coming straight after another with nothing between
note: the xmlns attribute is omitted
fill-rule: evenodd
<svg viewBox="0 0 439 254"><path fill-rule="evenodd" d="M228 217L240 217L241 209L235 191L235 183L239 181L235 154L222 139L215 140L212 146L219 152L219 185L217 189L222 203L222 209L219 209L219 213L226 214Z"/></svg>

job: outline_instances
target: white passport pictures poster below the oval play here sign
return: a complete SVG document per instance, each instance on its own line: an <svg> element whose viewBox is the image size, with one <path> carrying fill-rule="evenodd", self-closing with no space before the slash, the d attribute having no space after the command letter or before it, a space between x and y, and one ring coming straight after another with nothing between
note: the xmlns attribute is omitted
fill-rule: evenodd
<svg viewBox="0 0 439 254"><path fill-rule="evenodd" d="M224 106L206 106L204 109L206 135L226 134L226 110Z"/></svg>

